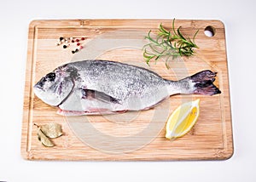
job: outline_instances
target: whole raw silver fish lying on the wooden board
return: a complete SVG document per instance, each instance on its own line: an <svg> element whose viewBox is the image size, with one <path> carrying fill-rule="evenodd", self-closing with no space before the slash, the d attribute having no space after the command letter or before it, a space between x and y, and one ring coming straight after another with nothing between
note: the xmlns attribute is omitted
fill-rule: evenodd
<svg viewBox="0 0 256 182"><path fill-rule="evenodd" d="M84 60L61 65L34 86L39 99L62 115L147 110L172 94L220 94L216 73L201 71L179 81L166 80L135 65Z"/></svg>

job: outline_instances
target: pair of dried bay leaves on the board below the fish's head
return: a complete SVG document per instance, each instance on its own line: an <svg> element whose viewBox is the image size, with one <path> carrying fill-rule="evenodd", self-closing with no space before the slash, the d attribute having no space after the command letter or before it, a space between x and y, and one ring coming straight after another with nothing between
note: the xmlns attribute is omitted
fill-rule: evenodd
<svg viewBox="0 0 256 182"><path fill-rule="evenodd" d="M41 141L44 146L55 146L50 139L55 139L63 134L61 125L55 122L50 122L42 126L34 125L38 127L38 140Z"/></svg>

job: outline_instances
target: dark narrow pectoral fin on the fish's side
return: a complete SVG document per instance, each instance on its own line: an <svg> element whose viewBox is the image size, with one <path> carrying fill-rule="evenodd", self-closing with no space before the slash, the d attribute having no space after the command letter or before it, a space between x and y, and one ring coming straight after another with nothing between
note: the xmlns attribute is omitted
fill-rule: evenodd
<svg viewBox="0 0 256 182"><path fill-rule="evenodd" d="M99 92L92 89L84 89L82 88L82 99L84 100L101 100L106 103L115 103L119 104L119 100L113 98L112 96L105 94L103 92Z"/></svg>

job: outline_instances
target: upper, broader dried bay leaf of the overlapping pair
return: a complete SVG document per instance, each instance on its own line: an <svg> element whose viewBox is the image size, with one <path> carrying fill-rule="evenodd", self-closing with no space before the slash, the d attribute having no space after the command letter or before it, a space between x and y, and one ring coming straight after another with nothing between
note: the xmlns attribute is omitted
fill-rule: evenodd
<svg viewBox="0 0 256 182"><path fill-rule="evenodd" d="M40 129L45 134L45 136L49 137L50 139L55 139L63 134L61 124L55 122L44 124L40 127Z"/></svg>

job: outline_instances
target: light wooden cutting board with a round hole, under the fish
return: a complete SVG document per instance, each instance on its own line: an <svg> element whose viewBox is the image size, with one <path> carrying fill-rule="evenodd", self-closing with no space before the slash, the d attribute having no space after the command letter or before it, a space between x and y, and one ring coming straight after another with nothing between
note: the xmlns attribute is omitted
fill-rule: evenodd
<svg viewBox="0 0 256 182"><path fill-rule="evenodd" d="M143 60L144 36L157 32L160 23L172 20L34 20L29 26L24 94L21 154L28 160L169 161L223 160L233 154L230 90L224 24L218 20L175 20L184 35L199 30L195 56L164 61L150 67ZM205 35L211 27L212 37ZM72 54L56 46L59 37L85 37L84 46ZM63 117L44 104L32 86L57 66L74 61L102 59L140 65L161 77L177 80L202 70L217 71L215 84L222 94L213 96L175 95L154 109L108 116ZM165 138L167 117L185 101L201 99L201 114L194 128L182 138ZM64 135L53 139L54 147L38 141L37 125L60 123Z"/></svg>

